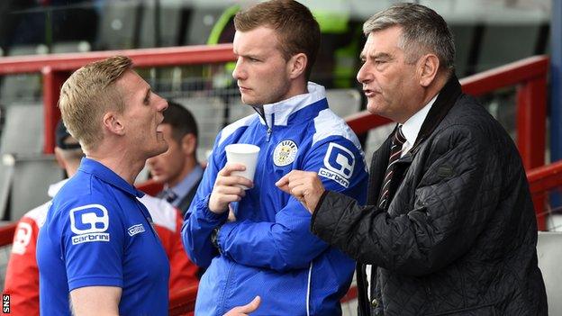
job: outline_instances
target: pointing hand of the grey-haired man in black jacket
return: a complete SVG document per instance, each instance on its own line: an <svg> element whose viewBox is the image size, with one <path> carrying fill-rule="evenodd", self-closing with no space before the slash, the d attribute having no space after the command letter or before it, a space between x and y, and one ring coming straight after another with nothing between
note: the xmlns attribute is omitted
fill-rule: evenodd
<svg viewBox="0 0 562 316"><path fill-rule="evenodd" d="M276 186L287 194L295 196L308 212L314 212L320 197L326 191L315 172L293 170L280 178Z"/></svg>

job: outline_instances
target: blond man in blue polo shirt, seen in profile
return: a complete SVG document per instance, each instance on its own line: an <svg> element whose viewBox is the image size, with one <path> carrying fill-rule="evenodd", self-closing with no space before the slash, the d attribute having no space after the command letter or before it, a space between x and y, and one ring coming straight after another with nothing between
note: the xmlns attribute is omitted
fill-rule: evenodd
<svg viewBox="0 0 562 316"><path fill-rule="evenodd" d="M113 57L70 76L59 107L86 158L40 230L41 315L167 314L168 259L132 185L168 149L159 131L167 102L131 59Z"/></svg>

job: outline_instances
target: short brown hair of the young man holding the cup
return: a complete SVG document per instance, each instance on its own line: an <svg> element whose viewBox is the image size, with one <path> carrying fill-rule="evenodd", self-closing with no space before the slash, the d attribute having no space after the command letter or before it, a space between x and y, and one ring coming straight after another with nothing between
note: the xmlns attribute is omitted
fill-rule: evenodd
<svg viewBox="0 0 562 316"><path fill-rule="evenodd" d="M310 10L293 0L270 0L240 11L234 17L236 31L248 32L260 26L276 31L278 49L286 60L298 53L306 55L308 79L320 48L320 26Z"/></svg>

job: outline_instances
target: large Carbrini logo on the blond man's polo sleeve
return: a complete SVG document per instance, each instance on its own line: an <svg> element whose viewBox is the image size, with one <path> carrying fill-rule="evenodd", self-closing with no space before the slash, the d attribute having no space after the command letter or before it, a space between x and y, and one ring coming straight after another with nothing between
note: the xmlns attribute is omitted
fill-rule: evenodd
<svg viewBox="0 0 562 316"><path fill-rule="evenodd" d="M90 241L109 241L109 215L104 205L88 204L70 210L70 230L77 234L72 244Z"/></svg>

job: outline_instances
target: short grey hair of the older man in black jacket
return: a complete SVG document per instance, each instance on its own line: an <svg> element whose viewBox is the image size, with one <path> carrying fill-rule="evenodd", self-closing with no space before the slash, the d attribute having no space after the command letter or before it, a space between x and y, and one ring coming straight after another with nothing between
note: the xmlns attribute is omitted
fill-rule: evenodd
<svg viewBox="0 0 562 316"><path fill-rule="evenodd" d="M440 14L423 5L396 4L371 16L363 24L363 32L368 36L393 26L402 27L400 48L409 61L431 51L440 59L441 68L454 69L455 41Z"/></svg>

